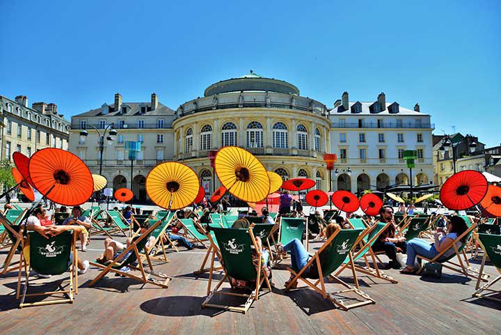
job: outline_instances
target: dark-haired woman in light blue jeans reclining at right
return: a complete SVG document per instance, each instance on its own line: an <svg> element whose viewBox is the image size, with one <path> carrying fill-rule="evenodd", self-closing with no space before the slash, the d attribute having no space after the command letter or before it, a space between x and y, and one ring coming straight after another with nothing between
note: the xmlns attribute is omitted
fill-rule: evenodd
<svg viewBox="0 0 501 335"><path fill-rule="evenodd" d="M420 272L420 266L416 269L414 267L416 263L416 256L424 256L426 258L432 259L437 256L440 252L445 251L445 253L438 258L438 261L444 260L445 258L454 254L455 250L451 247L452 242L456 240L458 236L468 230L468 226L463 218L454 215L447 222L447 233L443 228L437 228L434 233L435 242L429 244L426 240L420 238L413 238L407 242L407 261L406 267L401 270L401 273L413 274ZM459 249L463 244L466 243L466 236L463 237L459 242L456 243L456 247ZM448 249L447 249L448 248ZM421 259L417 259L417 263L420 263Z"/></svg>

